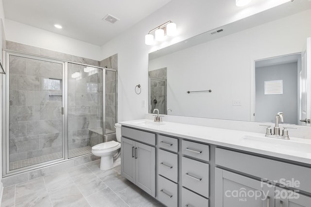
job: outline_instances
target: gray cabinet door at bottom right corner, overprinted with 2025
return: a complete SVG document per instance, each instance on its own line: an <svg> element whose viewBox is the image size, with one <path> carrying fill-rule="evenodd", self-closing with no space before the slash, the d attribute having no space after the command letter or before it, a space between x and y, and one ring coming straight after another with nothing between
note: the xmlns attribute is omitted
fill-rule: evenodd
<svg viewBox="0 0 311 207"><path fill-rule="evenodd" d="M276 188L276 207L311 207L311 197L298 191Z"/></svg>

